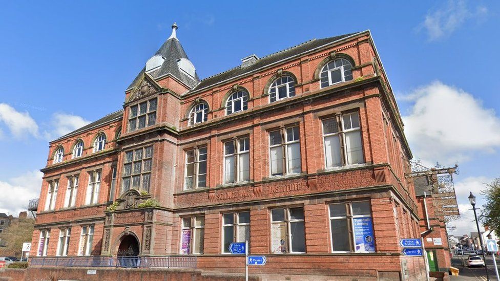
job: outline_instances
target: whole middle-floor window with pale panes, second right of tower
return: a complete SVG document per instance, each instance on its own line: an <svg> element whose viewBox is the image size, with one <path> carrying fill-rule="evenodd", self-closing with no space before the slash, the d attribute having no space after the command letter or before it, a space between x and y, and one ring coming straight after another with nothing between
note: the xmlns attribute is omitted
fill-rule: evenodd
<svg viewBox="0 0 500 281"><path fill-rule="evenodd" d="M250 139L224 142L224 183L250 179Z"/></svg>

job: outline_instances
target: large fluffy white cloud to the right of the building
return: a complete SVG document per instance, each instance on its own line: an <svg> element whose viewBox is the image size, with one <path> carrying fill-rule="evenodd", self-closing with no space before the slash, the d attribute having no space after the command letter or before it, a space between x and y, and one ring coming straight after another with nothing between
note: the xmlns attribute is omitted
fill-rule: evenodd
<svg viewBox="0 0 500 281"><path fill-rule="evenodd" d="M403 116L405 134L414 157L426 166L467 161L500 146L500 118L461 89L435 81L403 99L413 102Z"/></svg>

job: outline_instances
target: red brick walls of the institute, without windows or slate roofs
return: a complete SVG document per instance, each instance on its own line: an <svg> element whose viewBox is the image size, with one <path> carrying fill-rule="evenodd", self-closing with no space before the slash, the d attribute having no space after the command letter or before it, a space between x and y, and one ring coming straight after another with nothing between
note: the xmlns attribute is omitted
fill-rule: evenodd
<svg viewBox="0 0 500 281"><path fill-rule="evenodd" d="M319 73L335 58L351 61L352 80L321 88ZM282 75L295 79L296 95L270 103L269 85ZM87 225L94 225L92 255L116 256L125 237L131 236L138 242L140 255L179 255L182 218L201 215L203 254L198 256L197 267L242 273L244 258L222 253L222 214L249 211L249 252L267 257L266 266L251 268L251 273L360 280L423 276L423 259L402 256L398 244L399 239L419 233L421 214L412 182L405 177L411 153L401 116L369 32L345 36L209 85L202 81L195 88L173 75L155 79L143 73L138 78L126 91L122 116L50 143L31 256L38 254L44 229L50 230L47 256L56 255L63 227L71 227L67 255L77 255L81 228ZM247 110L226 116L225 101L235 90L249 95ZM131 107L151 99L157 101L155 124L128 132ZM209 107L207 120L190 125L189 111L200 102ZM322 120L349 112L359 116L363 163L327 168ZM299 129L301 172L270 176L269 132L289 125ZM107 143L104 150L94 153L99 133L106 135ZM249 181L224 184L224 142L239 137L249 138ZM84 141L84 153L72 159L78 139ZM149 146L149 188L123 190L127 152ZM64 147L65 155L54 164L58 147ZM206 187L184 190L186 151L200 147L207 150ZM111 194L113 167L117 176ZM98 199L86 205L89 172L96 170L101 173ZM68 177L74 175L79 175L75 206L65 207ZM55 208L45 210L54 180L59 183ZM150 204L152 199L157 203ZM374 252L332 252L329 204L360 200L370 205ZM270 213L278 207L303 208L305 253L272 253ZM402 273L403 264L407 275Z"/></svg>

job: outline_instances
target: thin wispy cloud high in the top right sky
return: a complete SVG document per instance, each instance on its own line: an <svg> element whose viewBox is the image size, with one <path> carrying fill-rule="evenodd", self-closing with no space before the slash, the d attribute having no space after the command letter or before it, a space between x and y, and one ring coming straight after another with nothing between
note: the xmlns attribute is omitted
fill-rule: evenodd
<svg viewBox="0 0 500 281"><path fill-rule="evenodd" d="M484 6L471 9L465 1L450 0L445 6L429 11L419 29L425 28L432 41L449 36L468 20L481 20L487 13Z"/></svg>

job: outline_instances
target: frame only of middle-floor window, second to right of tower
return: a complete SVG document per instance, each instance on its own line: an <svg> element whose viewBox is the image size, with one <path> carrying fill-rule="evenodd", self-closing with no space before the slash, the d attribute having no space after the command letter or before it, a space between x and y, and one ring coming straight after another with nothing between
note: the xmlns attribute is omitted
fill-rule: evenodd
<svg viewBox="0 0 500 281"><path fill-rule="evenodd" d="M243 142L248 142L248 149L245 149L244 145L243 145L243 150L242 147L241 147L241 141ZM226 143L233 143L233 147L234 147L234 153L232 154L226 154ZM223 149L224 149L224 165L223 165L223 182L224 184L228 184L228 183L237 183L237 182L248 182L250 180L250 138L249 137L243 137L243 138L239 138L239 139L233 139L231 141L226 141L224 142L223 144ZM247 175L247 179L244 179L245 177L243 177L241 174L243 173L243 163L242 163L242 157L244 155L248 155L248 175ZM234 163L234 179L232 181L226 181L226 164L225 164L225 161L227 158L233 158L233 163Z"/></svg>

